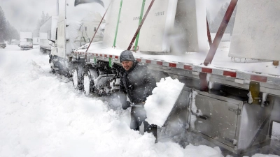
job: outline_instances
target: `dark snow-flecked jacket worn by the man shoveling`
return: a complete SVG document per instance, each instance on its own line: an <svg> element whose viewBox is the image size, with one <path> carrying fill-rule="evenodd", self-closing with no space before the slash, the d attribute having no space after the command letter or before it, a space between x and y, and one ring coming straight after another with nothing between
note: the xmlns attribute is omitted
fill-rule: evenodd
<svg viewBox="0 0 280 157"><path fill-rule="evenodd" d="M120 102L123 109L130 105L127 96L134 104L145 102L155 87L155 77L148 72L147 66L134 61L130 70L123 69L120 73Z"/></svg>

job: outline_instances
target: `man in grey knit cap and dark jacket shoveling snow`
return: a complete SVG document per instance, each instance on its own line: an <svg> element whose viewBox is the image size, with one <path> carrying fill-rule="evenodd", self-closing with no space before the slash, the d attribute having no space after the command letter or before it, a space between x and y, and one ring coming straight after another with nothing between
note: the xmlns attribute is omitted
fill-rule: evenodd
<svg viewBox="0 0 280 157"><path fill-rule="evenodd" d="M132 106L130 128L139 130L139 126L143 122L144 131L153 133L157 139L157 126L149 125L145 121L147 117L144 110L146 98L152 95L152 91L156 87L155 77L148 72L147 66L135 61L129 50L120 54L120 63L123 65L123 70L120 73L120 102L123 110ZM131 103L127 101L127 96Z"/></svg>

